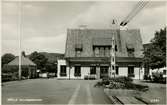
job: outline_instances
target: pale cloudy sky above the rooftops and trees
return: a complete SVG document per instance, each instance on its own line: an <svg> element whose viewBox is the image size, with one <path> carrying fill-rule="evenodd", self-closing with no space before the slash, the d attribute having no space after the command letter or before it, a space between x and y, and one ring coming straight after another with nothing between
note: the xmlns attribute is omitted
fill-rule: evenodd
<svg viewBox="0 0 167 105"><path fill-rule="evenodd" d="M34 51L64 53L68 28L78 28L79 25L111 28L113 19L119 24L136 4L137 1L4 1L2 55L19 55L20 50L26 54ZM155 31L165 27L166 13L165 1L151 1L127 27L140 29L143 44L149 43Z"/></svg>

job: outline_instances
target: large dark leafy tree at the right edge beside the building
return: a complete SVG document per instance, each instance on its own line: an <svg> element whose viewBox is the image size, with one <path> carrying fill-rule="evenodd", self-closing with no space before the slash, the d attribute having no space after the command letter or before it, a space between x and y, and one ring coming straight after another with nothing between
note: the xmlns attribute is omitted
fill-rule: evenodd
<svg viewBox="0 0 167 105"><path fill-rule="evenodd" d="M166 65L166 28L155 32L154 38L144 51L144 64L152 69Z"/></svg>

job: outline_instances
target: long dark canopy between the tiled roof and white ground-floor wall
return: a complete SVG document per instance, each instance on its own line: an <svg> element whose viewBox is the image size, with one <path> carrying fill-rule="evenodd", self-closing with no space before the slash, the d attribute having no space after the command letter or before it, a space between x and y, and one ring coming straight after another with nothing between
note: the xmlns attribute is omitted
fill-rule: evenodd
<svg viewBox="0 0 167 105"><path fill-rule="evenodd" d="M110 57L70 57L66 58L70 65L110 66ZM142 58L116 57L116 66L140 66Z"/></svg>

